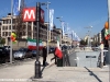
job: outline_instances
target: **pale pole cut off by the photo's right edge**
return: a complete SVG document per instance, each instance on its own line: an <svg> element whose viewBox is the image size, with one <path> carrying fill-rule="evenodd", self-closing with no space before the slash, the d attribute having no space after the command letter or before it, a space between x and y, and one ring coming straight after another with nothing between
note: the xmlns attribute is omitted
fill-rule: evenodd
<svg viewBox="0 0 110 82"><path fill-rule="evenodd" d="M108 0L108 23L109 23L109 34L110 34L110 0ZM110 39L108 40L109 44L109 82L110 82Z"/></svg>

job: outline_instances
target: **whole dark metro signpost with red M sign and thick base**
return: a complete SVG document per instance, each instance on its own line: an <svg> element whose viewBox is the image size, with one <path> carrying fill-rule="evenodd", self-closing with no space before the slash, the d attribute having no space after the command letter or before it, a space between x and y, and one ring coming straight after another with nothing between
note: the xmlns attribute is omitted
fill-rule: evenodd
<svg viewBox="0 0 110 82"><path fill-rule="evenodd" d="M35 79L41 78L41 62L38 60L38 27L40 23L44 23L44 10L41 9L41 3L36 3L36 8L23 9L23 22L36 22L36 61L35 61Z"/></svg>

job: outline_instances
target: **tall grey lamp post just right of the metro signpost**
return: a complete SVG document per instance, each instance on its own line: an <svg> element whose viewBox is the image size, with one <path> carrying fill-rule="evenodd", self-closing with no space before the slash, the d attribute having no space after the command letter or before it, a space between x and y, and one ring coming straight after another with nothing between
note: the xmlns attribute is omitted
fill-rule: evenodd
<svg viewBox="0 0 110 82"><path fill-rule="evenodd" d="M50 28L50 19L48 19L48 13L50 13L50 9L48 9L48 4L51 4L51 2L44 2L44 3L41 3L42 5L46 5L46 9L47 9L47 55L48 55L48 28ZM51 33L51 32L50 32Z"/></svg>

